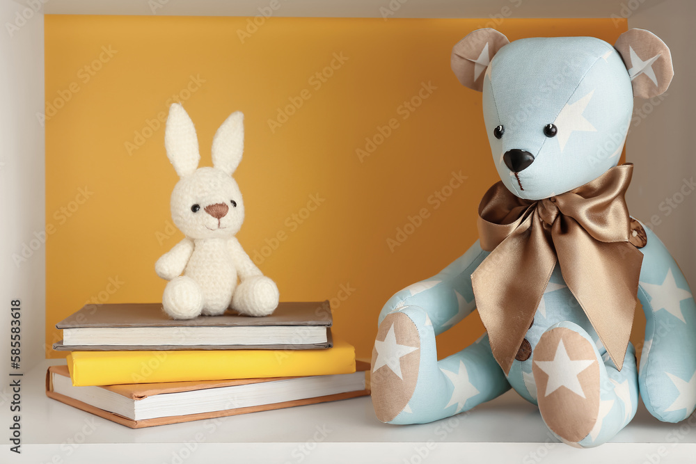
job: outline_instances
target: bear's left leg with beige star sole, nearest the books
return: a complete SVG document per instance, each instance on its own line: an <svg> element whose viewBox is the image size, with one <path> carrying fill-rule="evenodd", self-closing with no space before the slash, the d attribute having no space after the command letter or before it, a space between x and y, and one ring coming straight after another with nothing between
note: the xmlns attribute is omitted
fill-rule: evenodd
<svg viewBox="0 0 696 464"><path fill-rule="evenodd" d="M407 306L387 314L372 351L372 402L390 424L423 424L450 417L509 390L484 336L438 362L427 312Z"/></svg>

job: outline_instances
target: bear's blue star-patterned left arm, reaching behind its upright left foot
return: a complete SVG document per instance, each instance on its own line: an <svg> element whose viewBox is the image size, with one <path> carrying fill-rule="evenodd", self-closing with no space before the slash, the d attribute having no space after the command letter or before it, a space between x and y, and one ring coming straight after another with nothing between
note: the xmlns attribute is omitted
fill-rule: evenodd
<svg viewBox="0 0 696 464"><path fill-rule="evenodd" d="M488 255L476 241L437 275L397 291L383 306L379 323L393 310L416 305L428 313L436 335L452 328L476 307L471 273Z"/></svg>

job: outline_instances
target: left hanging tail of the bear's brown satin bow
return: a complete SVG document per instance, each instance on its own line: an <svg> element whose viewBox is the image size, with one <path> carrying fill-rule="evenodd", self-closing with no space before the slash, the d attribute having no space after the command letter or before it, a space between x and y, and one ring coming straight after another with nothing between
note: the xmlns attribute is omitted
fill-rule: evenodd
<svg viewBox="0 0 696 464"><path fill-rule="evenodd" d="M556 263L544 227L532 214L471 275L493 357L509 374Z"/></svg>

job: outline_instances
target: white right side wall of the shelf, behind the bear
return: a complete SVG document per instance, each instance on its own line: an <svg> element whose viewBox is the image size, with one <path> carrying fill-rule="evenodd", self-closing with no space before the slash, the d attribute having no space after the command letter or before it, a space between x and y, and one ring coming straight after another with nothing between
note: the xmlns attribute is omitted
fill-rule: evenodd
<svg viewBox="0 0 696 464"><path fill-rule="evenodd" d="M652 103L635 100L634 115L640 122L635 124L634 118L626 145L626 160L635 163L628 207L643 222L656 219L652 229L670 249L694 289L696 191L685 186L685 180L696 179L696 2L644 1L628 12L630 15L619 13L628 16L628 28L648 29L658 35L672 50L674 61L674 80L664 99ZM644 115L638 113L641 108ZM667 198L676 207L670 206Z"/></svg>

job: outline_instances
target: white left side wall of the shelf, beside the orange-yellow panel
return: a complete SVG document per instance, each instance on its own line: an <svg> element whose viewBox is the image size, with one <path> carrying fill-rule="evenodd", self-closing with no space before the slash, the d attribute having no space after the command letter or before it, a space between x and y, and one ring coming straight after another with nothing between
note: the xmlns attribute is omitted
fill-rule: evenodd
<svg viewBox="0 0 696 464"><path fill-rule="evenodd" d="M46 254L34 235L41 237L45 224L44 130L35 116L44 106L43 15L26 8L0 2L0 374L9 369L9 308L15 298L22 299L20 371L44 358ZM7 24L17 26L12 35ZM28 248L31 253L25 251L26 261L17 266L12 256L22 253L24 244L34 249ZM4 399L0 394L0 404Z"/></svg>

